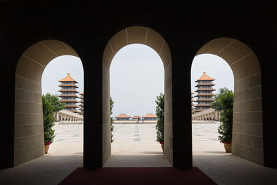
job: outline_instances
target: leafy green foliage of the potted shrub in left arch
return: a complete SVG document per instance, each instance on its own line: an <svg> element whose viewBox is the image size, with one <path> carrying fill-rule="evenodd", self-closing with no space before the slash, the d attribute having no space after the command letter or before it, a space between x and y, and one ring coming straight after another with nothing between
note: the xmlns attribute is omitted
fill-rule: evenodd
<svg viewBox="0 0 277 185"><path fill-rule="evenodd" d="M55 125L54 107L51 101L42 95L43 121L44 121L44 143L52 143L55 137L55 130L52 127Z"/></svg>

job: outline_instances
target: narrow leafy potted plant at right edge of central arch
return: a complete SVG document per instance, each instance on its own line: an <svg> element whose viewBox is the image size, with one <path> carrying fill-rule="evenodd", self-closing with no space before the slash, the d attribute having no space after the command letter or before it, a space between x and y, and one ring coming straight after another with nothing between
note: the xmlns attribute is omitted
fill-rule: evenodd
<svg viewBox="0 0 277 185"><path fill-rule="evenodd" d="M157 96L156 116L157 116L157 141L161 143L161 149L164 152L164 94Z"/></svg>

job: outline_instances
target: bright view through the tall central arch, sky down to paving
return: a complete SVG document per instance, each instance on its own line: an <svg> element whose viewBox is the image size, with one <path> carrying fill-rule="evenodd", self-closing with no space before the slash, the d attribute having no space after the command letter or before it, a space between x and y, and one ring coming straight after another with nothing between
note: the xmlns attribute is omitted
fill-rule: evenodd
<svg viewBox="0 0 277 185"><path fill-rule="evenodd" d="M114 101L111 157L105 167L171 166L157 140L157 96L164 93L163 62L145 44L129 44L114 56L110 94Z"/></svg>

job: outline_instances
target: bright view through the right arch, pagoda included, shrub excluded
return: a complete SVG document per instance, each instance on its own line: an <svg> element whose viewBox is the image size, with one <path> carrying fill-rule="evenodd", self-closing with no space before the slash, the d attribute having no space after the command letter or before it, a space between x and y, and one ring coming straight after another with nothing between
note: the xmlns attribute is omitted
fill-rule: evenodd
<svg viewBox="0 0 277 185"><path fill-rule="evenodd" d="M203 161L221 163L225 155L223 143L218 140L218 127L222 110L215 109L215 95L220 89L234 89L233 71L229 64L217 55L195 56L191 67L193 165L207 166ZM214 157L211 159L209 157ZM225 158L226 159L226 158ZM210 166L207 168L211 168ZM203 169L203 168L202 168Z"/></svg>

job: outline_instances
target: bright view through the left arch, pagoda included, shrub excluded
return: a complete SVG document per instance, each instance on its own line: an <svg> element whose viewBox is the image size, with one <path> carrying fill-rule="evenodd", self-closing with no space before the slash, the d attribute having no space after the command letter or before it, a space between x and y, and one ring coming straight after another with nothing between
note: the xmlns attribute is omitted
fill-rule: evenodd
<svg viewBox="0 0 277 185"><path fill-rule="evenodd" d="M73 166L82 166L84 71L80 58L62 55L49 62L42 73L42 96L64 103L54 112L55 138L47 156L71 155ZM55 102L57 103L57 102ZM44 138L45 140L45 138ZM66 159L66 158L65 158Z"/></svg>

